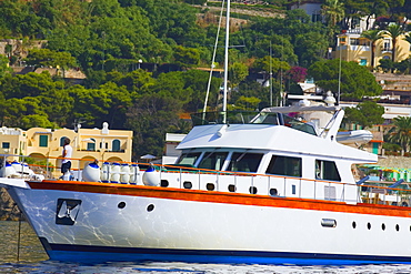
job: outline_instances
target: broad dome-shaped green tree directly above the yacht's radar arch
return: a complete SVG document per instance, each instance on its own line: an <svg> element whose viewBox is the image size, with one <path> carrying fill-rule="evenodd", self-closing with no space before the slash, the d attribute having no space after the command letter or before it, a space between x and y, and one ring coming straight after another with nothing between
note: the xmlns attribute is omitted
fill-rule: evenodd
<svg viewBox="0 0 411 274"><path fill-rule="evenodd" d="M339 73L341 62L341 98L362 99L382 93L382 88L377 83L375 77L363 65L357 62L345 62L339 59L323 60L313 63L308 74L314 78L315 84L324 91L338 94Z"/></svg>

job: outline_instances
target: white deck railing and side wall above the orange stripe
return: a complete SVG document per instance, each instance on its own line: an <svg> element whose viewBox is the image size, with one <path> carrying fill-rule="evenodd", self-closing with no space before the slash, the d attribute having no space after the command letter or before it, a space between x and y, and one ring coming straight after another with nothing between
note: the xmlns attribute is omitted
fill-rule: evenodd
<svg viewBox="0 0 411 274"><path fill-rule="evenodd" d="M24 163L20 163L19 168L21 169L21 172L17 173L13 177L20 176L27 180L39 181L36 177L33 179L29 176L27 168L30 168L36 174L42 175L46 180L59 180L61 173L60 168L56 164L57 160L61 159L34 159L21 156L21 161ZM78 166L86 166L87 164L93 162L84 159L71 159L71 161L78 161ZM385 206L411 205L411 190L407 189L407 184L394 185L394 187L390 187L372 185L365 182L361 185L355 185L344 182L309 180L274 174L215 171L184 165L161 165L151 163L104 162L104 164L99 165L101 171L104 170L103 165L106 165L106 168L108 165L116 165L118 170L104 170L104 176L108 179L104 182L111 184L116 182L119 185L143 185L144 172L151 166L156 168L159 175L158 187L217 191L272 197L313 199L345 203L368 203L381 204ZM120 170L120 166L127 169L127 172L122 169ZM132 170L131 166L137 168ZM79 169L73 169L72 173L74 176L72 176L71 180L81 180L81 175L79 175L81 174L80 172L81 171ZM110 180L114 175L117 176L117 181ZM122 182L122 175L127 175L126 177L134 176L134 181ZM97 181L104 183L103 180ZM324 194L324 192L328 194Z"/></svg>

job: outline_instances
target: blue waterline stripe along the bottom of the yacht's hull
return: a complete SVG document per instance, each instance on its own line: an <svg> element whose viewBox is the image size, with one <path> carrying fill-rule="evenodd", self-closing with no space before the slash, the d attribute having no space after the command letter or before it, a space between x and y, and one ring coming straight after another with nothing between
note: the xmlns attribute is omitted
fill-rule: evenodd
<svg viewBox="0 0 411 274"><path fill-rule="evenodd" d="M374 256L353 254L263 252L263 251L221 251L221 250L177 250L112 247L92 245L49 244L41 239L47 252L53 260L84 256L106 261L183 261L198 263L279 263L299 261L321 262L320 264L363 264L363 263L411 263L411 256ZM48 246L47 246L48 245Z"/></svg>

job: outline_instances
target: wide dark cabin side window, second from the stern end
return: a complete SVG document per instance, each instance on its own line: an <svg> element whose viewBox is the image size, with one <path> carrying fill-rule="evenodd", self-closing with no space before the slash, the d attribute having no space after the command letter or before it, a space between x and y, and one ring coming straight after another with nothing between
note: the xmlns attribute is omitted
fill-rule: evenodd
<svg viewBox="0 0 411 274"><path fill-rule="evenodd" d="M301 177L301 158L272 155L267 173Z"/></svg>

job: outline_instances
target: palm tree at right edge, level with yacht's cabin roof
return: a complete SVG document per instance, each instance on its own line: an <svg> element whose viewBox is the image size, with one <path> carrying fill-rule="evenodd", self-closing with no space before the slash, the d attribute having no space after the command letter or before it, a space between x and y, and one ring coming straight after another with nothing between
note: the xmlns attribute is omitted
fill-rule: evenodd
<svg viewBox="0 0 411 274"><path fill-rule="evenodd" d="M390 130L389 141L398 143L404 150L411 145L411 116L394 118L394 128Z"/></svg>

